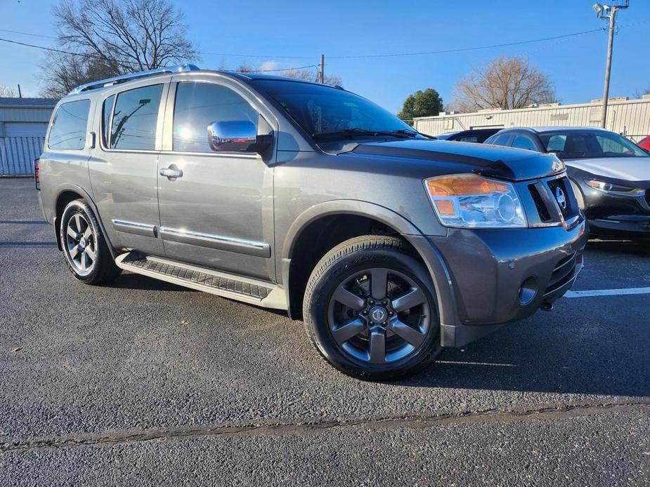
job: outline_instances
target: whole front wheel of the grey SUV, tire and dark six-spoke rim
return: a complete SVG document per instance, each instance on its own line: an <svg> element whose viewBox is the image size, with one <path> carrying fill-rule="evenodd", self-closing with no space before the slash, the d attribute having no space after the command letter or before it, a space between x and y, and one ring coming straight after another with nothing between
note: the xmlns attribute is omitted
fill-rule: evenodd
<svg viewBox="0 0 650 487"><path fill-rule="evenodd" d="M428 366L441 351L435 296L429 272L403 240L359 236L313 269L303 305L306 332L346 375L395 380Z"/></svg>

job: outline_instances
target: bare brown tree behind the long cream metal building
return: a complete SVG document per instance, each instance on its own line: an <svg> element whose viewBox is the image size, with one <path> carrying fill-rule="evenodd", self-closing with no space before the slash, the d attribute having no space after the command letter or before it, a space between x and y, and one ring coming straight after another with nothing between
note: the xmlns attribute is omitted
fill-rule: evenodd
<svg viewBox="0 0 650 487"><path fill-rule="evenodd" d="M501 56L476 69L455 86L454 109L523 108L556 100L549 77L526 58Z"/></svg>

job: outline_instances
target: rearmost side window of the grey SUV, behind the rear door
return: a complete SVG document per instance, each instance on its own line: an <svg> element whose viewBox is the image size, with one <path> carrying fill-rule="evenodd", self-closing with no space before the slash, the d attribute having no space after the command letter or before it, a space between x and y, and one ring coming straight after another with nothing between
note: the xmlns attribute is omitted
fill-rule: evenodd
<svg viewBox="0 0 650 487"><path fill-rule="evenodd" d="M86 145L90 100L60 105L56 110L47 146L50 149L81 150Z"/></svg>

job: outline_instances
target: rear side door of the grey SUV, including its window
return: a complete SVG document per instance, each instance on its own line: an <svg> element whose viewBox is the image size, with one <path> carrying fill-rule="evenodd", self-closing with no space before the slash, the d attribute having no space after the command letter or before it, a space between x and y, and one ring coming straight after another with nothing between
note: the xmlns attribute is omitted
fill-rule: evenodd
<svg viewBox="0 0 650 487"><path fill-rule="evenodd" d="M162 255L157 227L157 158L166 78L108 91L96 114L98 144L89 161L93 195L111 243Z"/></svg>

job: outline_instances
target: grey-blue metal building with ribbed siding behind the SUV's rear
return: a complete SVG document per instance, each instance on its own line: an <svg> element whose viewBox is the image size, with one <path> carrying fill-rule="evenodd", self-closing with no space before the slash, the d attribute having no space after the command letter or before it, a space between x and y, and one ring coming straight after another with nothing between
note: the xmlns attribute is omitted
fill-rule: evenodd
<svg viewBox="0 0 650 487"><path fill-rule="evenodd" d="M56 98L0 98L0 176L34 173Z"/></svg>

